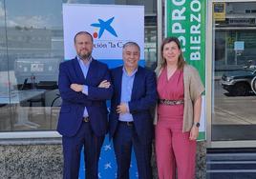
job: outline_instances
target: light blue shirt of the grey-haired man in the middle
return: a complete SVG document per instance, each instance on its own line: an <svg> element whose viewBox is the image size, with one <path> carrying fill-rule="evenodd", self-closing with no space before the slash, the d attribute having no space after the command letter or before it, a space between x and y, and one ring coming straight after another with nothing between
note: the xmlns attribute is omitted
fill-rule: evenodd
<svg viewBox="0 0 256 179"><path fill-rule="evenodd" d="M131 101L134 79L137 70L134 70L132 74L129 75L124 68L122 69L121 103L126 104L128 112L120 114L119 121L134 121L133 115L130 113L128 102Z"/></svg>

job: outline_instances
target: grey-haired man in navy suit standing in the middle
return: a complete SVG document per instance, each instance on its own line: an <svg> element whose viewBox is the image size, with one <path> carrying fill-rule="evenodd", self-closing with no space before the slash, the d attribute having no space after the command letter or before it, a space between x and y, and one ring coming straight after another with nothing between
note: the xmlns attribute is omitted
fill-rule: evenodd
<svg viewBox="0 0 256 179"><path fill-rule="evenodd" d="M139 67L139 45L123 46L123 66L111 70L114 95L111 100L110 137L117 158L117 179L129 179L134 147L139 179L151 179L153 119L150 109L157 101L156 74Z"/></svg>

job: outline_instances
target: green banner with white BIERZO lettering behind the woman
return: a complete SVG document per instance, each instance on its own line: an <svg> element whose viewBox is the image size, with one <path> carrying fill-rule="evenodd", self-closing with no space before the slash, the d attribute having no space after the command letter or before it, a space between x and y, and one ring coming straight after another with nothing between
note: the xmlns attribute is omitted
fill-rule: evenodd
<svg viewBox="0 0 256 179"><path fill-rule="evenodd" d="M205 87L205 10L206 0L166 0L165 34L181 42L185 61L199 70ZM199 140L205 139L205 95Z"/></svg>

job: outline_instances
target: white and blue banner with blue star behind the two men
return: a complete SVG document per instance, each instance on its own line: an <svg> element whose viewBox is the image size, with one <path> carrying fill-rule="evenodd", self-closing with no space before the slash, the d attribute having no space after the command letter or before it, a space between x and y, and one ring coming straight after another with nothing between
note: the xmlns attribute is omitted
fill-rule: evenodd
<svg viewBox="0 0 256 179"><path fill-rule="evenodd" d="M122 46L128 41L139 44L139 65L144 60L144 7L117 5L63 4L63 30L65 60L75 57L74 36L81 30L94 37L93 57L109 68L122 65ZM98 178L116 178L117 164L113 144L106 136L99 159ZM84 176L83 151L79 178ZM135 155L132 155L130 177L138 178Z"/></svg>

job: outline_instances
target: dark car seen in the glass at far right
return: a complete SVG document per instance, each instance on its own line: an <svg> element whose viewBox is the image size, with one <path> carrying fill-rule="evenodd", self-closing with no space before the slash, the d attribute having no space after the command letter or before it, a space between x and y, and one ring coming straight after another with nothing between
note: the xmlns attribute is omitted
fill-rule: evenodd
<svg viewBox="0 0 256 179"><path fill-rule="evenodd" d="M256 66L249 64L242 70L224 72L221 84L231 95L245 96L252 93L251 82L255 76Z"/></svg>

